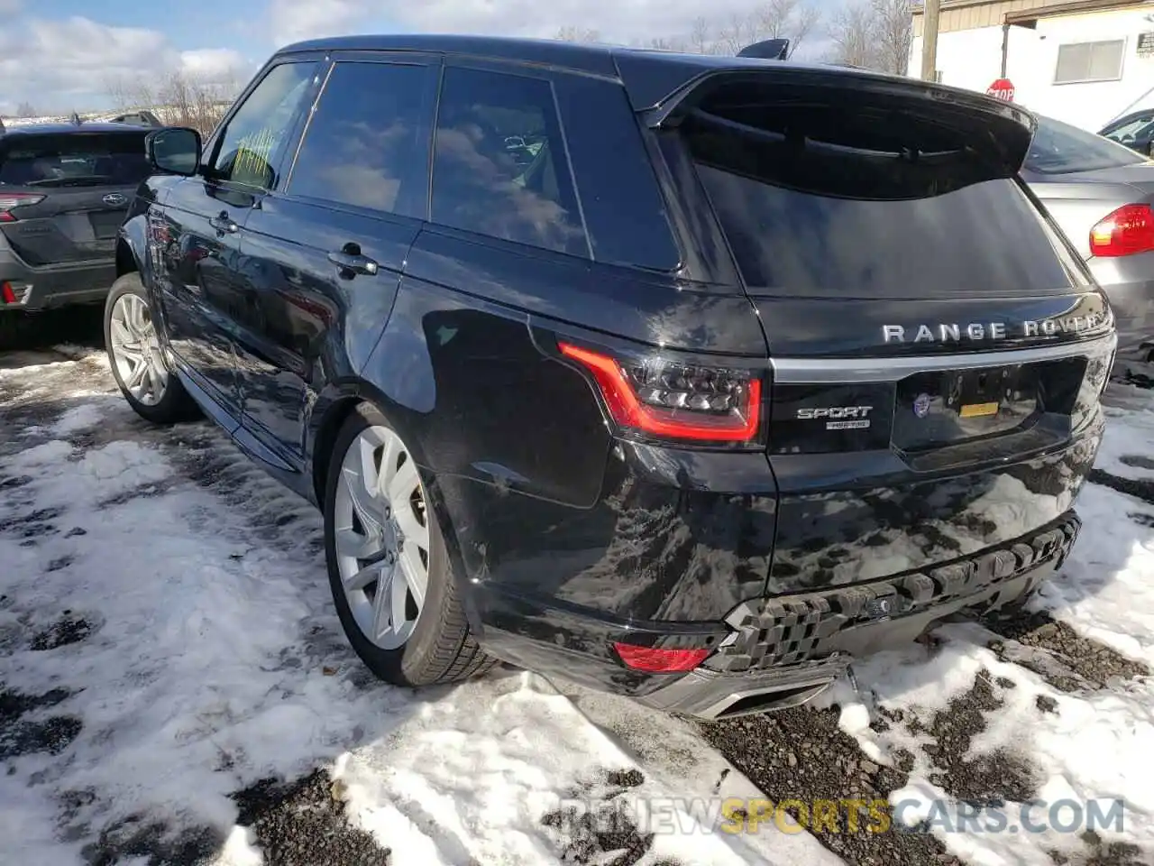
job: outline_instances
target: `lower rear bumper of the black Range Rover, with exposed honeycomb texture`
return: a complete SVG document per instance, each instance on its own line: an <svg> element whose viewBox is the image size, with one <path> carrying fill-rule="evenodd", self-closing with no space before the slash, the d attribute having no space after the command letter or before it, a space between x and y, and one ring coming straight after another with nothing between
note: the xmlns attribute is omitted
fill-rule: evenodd
<svg viewBox="0 0 1154 866"><path fill-rule="evenodd" d="M804 703L854 658L908 645L961 611L992 611L1020 598L1061 568L1080 527L1071 510L1013 544L935 569L744 602L726 618L724 632L710 624L673 630L670 624L615 622L492 587L474 603L486 649L507 662L715 721ZM689 673L651 674L617 660L608 649L615 641L715 649Z"/></svg>

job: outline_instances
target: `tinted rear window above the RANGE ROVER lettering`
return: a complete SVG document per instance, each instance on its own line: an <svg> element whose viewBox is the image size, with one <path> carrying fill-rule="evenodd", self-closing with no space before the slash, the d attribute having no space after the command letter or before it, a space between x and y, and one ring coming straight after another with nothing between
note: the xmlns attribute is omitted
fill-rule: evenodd
<svg viewBox="0 0 1154 866"><path fill-rule="evenodd" d="M934 124L752 107L741 120L757 128L698 113L684 133L750 289L931 298L1071 285L1061 241L1009 170Z"/></svg>

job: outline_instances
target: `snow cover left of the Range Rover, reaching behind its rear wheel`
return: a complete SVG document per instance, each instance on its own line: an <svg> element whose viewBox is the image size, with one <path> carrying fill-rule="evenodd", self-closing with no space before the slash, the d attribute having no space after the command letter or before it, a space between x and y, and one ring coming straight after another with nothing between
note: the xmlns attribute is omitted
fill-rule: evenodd
<svg viewBox="0 0 1154 866"><path fill-rule="evenodd" d="M123 857L138 828L193 828L220 866L250 866L231 794L319 764L390 863L421 866L580 852L549 815L610 796L614 774L639 770L634 797L713 793L724 760L695 778L639 766L531 674L373 681L339 634L317 515L207 424L137 419L99 354L0 369L0 700L35 704L0 741L0 861ZM636 731L653 715L615 707ZM622 839L629 863L839 863L808 835Z"/></svg>

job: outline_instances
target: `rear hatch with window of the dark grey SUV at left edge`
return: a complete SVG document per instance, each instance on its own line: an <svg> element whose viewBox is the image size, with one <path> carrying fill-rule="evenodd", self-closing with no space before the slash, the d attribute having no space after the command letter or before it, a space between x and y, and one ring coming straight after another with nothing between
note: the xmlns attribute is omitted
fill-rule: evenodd
<svg viewBox="0 0 1154 866"><path fill-rule="evenodd" d="M10 208L0 231L32 266L104 259L133 193L150 173L147 129L21 133L0 141L0 194Z"/></svg>

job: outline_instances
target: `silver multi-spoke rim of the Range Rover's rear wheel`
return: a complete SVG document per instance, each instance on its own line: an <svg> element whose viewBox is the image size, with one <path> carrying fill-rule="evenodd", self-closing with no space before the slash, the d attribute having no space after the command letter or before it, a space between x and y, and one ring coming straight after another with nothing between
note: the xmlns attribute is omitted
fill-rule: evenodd
<svg viewBox="0 0 1154 866"><path fill-rule="evenodd" d="M388 427L368 427L340 461L334 505L337 570L357 627L403 647L425 607L429 528L417 464Z"/></svg>

